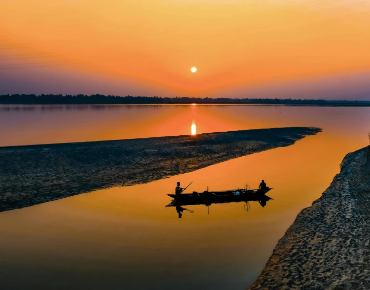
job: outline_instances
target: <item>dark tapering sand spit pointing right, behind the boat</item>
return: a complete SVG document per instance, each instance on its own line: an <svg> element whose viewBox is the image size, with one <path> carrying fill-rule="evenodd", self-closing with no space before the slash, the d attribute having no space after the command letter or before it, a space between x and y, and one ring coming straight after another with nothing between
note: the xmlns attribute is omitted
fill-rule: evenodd
<svg viewBox="0 0 370 290"><path fill-rule="evenodd" d="M182 174L284 147L318 128L247 130L197 136L0 148L0 212L71 195Z"/></svg>

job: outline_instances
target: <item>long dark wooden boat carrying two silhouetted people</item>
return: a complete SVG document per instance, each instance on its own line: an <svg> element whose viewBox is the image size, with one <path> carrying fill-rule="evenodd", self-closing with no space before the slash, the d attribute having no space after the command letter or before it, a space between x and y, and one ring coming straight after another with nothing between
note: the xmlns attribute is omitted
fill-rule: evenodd
<svg viewBox="0 0 370 290"><path fill-rule="evenodd" d="M173 198L172 204L176 205L196 205L212 203L225 203L225 202L240 202L240 201L261 201L270 200L271 198L265 194L271 188L264 190L227 190L227 191L204 191L202 193L182 193L182 194L167 194ZM171 203L170 203L171 204ZM174 205L170 205L174 206Z"/></svg>

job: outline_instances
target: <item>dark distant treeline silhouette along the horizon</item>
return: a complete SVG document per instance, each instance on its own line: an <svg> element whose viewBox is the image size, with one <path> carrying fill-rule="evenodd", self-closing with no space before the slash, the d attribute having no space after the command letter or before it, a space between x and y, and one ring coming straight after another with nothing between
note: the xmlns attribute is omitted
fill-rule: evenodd
<svg viewBox="0 0 370 290"><path fill-rule="evenodd" d="M1 104L26 105L150 105L175 103L203 104L265 104L265 105L311 105L311 106L370 106L370 101L323 100L323 99L264 99L264 98L191 98L191 97L133 97L112 95L0 95Z"/></svg>

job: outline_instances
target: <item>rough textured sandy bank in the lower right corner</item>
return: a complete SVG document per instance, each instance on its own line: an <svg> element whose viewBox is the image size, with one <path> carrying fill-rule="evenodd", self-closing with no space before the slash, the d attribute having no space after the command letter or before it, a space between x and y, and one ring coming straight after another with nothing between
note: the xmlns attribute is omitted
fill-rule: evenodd
<svg viewBox="0 0 370 290"><path fill-rule="evenodd" d="M370 147L302 210L249 289L370 289Z"/></svg>

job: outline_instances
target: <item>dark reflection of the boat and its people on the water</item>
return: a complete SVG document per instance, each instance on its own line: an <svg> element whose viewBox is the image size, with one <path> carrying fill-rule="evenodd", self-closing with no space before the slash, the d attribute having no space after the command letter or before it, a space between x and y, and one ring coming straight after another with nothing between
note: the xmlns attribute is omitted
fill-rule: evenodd
<svg viewBox="0 0 370 290"><path fill-rule="evenodd" d="M235 196L224 196L224 197L218 197L215 200L212 200L212 198L208 199L199 199L199 200L177 200L173 199L169 204L166 205L166 208L174 207L176 208L176 211L179 215L179 218L182 218L182 213L184 211L188 211L190 213L194 213L194 211L188 210L184 208L183 206L186 205L205 205L208 209L209 214L209 206L212 203L231 203L231 202L244 202L244 210L248 211L250 209L249 201L258 201L260 205L264 208L266 206L266 203L268 200L271 200L272 198L265 195L265 194L256 194L256 195L235 195Z"/></svg>

